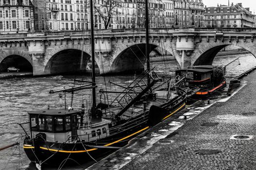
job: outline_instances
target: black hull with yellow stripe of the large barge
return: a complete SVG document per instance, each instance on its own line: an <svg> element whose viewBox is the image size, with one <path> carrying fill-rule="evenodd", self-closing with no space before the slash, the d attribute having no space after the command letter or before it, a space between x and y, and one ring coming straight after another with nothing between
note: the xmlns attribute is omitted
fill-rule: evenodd
<svg viewBox="0 0 256 170"><path fill-rule="evenodd" d="M172 104L172 102L167 102L160 106L167 111L166 113L159 114L161 121L168 119L178 111L184 109L186 106L186 96L180 99L175 105ZM62 163L70 165L76 164L76 162L81 164L91 161L91 157L97 159L102 157L102 155L115 152L117 149L107 147L123 147L129 140L147 131L157 123L150 124L149 119L143 121L143 118L141 118L141 121L138 121L135 126L129 127L128 129L121 129L120 132L114 135L91 142L56 143L44 141L38 144L34 140L25 139L23 148L28 158L34 163L41 162L42 164L51 166L59 166ZM88 145L103 146L105 148L88 147Z"/></svg>

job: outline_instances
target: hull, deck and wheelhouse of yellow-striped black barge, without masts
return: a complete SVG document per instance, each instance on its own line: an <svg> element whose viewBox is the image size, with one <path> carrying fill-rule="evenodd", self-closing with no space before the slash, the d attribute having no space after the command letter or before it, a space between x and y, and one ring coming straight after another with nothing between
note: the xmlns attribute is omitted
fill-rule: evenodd
<svg viewBox="0 0 256 170"><path fill-rule="evenodd" d="M182 90L160 89L152 94L146 93L150 86L144 86L139 93L130 93L137 88L134 84L128 85L128 93L120 93L123 95L119 98L126 100L135 96L126 106L118 105L121 100L116 99L111 105L99 103L94 114L84 111L83 105L80 111L29 111L30 133L23 145L28 158L40 166L85 163L116 151L186 106L186 93Z"/></svg>

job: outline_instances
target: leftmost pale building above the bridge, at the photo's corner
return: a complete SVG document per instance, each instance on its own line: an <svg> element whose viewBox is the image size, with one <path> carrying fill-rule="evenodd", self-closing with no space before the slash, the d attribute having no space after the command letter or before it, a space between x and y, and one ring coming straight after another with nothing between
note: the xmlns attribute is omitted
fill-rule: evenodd
<svg viewBox="0 0 256 170"><path fill-rule="evenodd" d="M34 7L30 0L0 0L0 34L34 31Z"/></svg>

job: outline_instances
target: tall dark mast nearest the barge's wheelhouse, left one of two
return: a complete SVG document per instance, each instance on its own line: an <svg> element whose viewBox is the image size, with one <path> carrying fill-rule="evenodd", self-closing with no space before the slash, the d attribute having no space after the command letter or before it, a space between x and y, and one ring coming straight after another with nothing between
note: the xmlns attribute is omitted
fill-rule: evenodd
<svg viewBox="0 0 256 170"><path fill-rule="evenodd" d="M90 19L91 19L91 60L92 60L92 109L94 114L96 108L96 81L95 81L95 58L94 58L94 25L93 25L93 1L90 0Z"/></svg>

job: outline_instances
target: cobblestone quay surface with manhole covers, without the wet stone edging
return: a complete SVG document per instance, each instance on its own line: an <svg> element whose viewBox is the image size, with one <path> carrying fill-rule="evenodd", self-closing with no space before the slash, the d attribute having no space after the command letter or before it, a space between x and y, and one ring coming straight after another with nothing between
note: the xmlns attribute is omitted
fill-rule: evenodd
<svg viewBox="0 0 256 170"><path fill-rule="evenodd" d="M247 85L227 102L215 103L178 129L169 138L173 143L155 143L122 170L256 170L256 71L242 81ZM253 138L230 139L233 135Z"/></svg>

